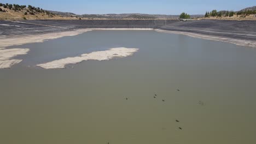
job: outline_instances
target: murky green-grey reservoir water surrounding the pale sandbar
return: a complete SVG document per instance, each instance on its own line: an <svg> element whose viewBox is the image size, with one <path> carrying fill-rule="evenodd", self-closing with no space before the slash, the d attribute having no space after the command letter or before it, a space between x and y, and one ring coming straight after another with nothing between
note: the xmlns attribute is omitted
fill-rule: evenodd
<svg viewBox="0 0 256 144"><path fill-rule="evenodd" d="M0 143L256 143L256 49L155 31L20 47L31 49L24 61L0 70ZM27 67L111 47L139 51Z"/></svg>

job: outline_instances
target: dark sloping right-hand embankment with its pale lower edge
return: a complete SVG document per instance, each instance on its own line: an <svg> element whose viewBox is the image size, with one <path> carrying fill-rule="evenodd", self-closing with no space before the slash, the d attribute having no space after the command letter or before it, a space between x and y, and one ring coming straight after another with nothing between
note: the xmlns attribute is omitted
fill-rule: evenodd
<svg viewBox="0 0 256 144"><path fill-rule="evenodd" d="M162 26L158 32L184 34L195 38L256 47L256 21L181 21Z"/></svg>

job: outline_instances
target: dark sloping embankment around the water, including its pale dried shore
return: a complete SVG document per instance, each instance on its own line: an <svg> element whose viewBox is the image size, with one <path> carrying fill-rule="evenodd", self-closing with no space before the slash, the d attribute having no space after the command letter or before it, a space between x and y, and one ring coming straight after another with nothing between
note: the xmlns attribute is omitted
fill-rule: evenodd
<svg viewBox="0 0 256 144"><path fill-rule="evenodd" d="M225 41L236 45L256 47L256 21L229 20L29 20L0 21L0 68L10 68L29 50L8 46L39 43L47 39L78 35L100 30L155 30L184 34L190 37Z"/></svg>

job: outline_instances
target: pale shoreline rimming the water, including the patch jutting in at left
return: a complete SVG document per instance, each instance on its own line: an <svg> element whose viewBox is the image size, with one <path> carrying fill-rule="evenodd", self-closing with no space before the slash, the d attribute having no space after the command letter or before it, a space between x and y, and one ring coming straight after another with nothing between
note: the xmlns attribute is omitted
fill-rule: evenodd
<svg viewBox="0 0 256 144"><path fill-rule="evenodd" d="M0 39L0 69L11 68L14 64L22 62L22 59L13 59L13 57L18 55L26 55L29 49L7 49L8 46L18 46L29 43L43 43L46 40L57 39L61 37L70 37L78 34L82 34L90 31L156 31L161 33L171 33L171 34L183 34L188 35L193 38L223 41L226 43L241 45L241 46L250 46L256 47L256 41L246 40L246 39L234 39L227 37L218 37L216 35L206 35L193 32L184 32L184 31L172 31L164 29L154 29L154 28L83 28L75 29L72 31L63 31L63 32L53 32L53 33L44 33L44 34L31 34L31 35L15 35L14 37L2 37ZM232 35L232 34L230 34Z"/></svg>

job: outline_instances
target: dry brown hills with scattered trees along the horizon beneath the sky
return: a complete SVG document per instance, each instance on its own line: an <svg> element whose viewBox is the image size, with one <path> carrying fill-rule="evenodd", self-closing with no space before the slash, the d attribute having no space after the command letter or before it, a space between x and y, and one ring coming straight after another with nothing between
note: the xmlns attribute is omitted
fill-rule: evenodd
<svg viewBox="0 0 256 144"><path fill-rule="evenodd" d="M212 10L206 15L190 15L191 18L219 19L219 20L256 20L256 6L238 11ZM179 15L160 14L83 14L44 10L32 7L31 5L2 4L0 3L0 20L97 20L97 19L118 19L118 20L155 20L155 19L179 19Z"/></svg>

